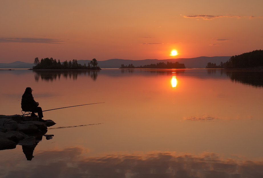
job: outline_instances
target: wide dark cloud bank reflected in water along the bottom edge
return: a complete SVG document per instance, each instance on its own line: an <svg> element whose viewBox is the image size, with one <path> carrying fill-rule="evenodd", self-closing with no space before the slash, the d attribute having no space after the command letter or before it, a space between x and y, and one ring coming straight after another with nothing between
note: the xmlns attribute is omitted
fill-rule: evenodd
<svg viewBox="0 0 263 178"><path fill-rule="evenodd" d="M260 177L262 161L204 152L199 155L153 151L87 157L83 148L35 151L32 161L23 157L2 159L2 177ZM30 169L28 168L30 167ZM48 170L48 171L47 171ZM181 176L185 175L185 176ZM193 175L193 176L191 176ZM201 175L201 176L198 176ZM220 176L219 176L220 175Z"/></svg>

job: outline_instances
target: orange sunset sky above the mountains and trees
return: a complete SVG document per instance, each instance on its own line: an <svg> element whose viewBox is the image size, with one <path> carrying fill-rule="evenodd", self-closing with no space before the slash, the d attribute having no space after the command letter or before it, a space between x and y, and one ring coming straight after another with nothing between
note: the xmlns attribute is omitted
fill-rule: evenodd
<svg viewBox="0 0 263 178"><path fill-rule="evenodd" d="M238 55L263 49L262 7L262 0L0 1L0 63Z"/></svg>

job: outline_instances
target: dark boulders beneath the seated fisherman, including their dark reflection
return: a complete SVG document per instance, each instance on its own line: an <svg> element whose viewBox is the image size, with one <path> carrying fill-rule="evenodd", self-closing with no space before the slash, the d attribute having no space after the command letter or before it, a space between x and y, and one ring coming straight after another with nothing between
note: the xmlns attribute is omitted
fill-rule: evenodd
<svg viewBox="0 0 263 178"><path fill-rule="evenodd" d="M45 135L45 133L48 127L55 124L52 120L40 122L38 117L0 115L0 150L14 149L16 145L22 145L24 153L30 148L34 150L43 136L52 139L54 135Z"/></svg>

